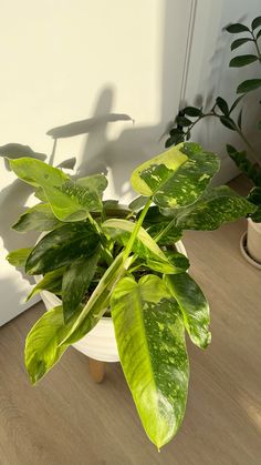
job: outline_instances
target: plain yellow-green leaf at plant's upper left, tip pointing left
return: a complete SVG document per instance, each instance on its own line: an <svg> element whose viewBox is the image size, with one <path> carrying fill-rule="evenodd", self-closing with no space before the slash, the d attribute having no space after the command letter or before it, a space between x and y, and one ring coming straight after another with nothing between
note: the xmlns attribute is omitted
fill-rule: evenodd
<svg viewBox="0 0 261 465"><path fill-rule="evenodd" d="M69 176L61 170L50 166L40 160L25 156L17 160L9 160L9 163L18 178L35 188L46 184L61 186L69 180Z"/></svg>

